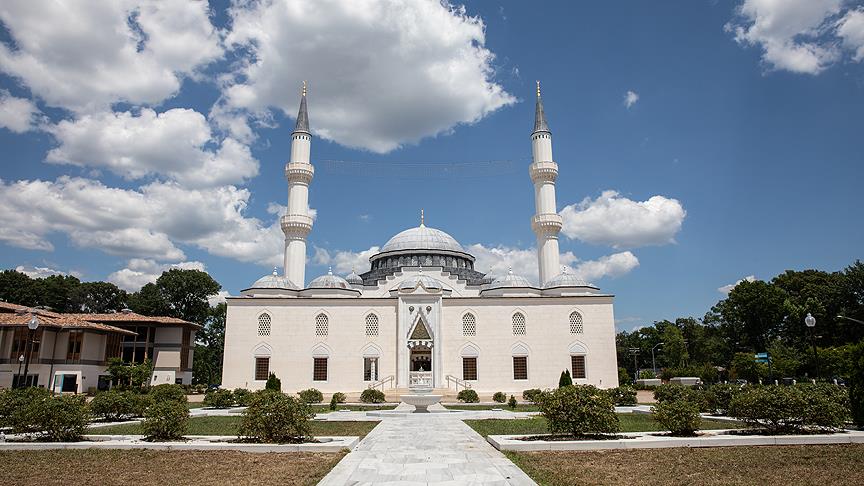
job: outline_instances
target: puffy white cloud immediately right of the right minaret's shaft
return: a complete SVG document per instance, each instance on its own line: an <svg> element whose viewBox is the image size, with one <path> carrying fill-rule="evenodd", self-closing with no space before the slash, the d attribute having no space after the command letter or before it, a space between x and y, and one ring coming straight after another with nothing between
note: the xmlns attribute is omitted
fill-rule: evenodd
<svg viewBox="0 0 864 486"><path fill-rule="evenodd" d="M633 201L603 191L561 210L562 232L571 239L612 248L637 248L675 242L687 212L676 199L652 196Z"/></svg>

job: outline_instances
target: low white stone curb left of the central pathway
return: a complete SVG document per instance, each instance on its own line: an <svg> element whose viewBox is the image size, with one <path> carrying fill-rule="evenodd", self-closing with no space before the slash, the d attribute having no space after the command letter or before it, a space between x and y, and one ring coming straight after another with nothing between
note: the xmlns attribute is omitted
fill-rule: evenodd
<svg viewBox="0 0 864 486"><path fill-rule="evenodd" d="M237 436L187 436L187 442L144 442L140 435L85 435L88 442L0 442L0 451L39 451L51 449L150 449L158 451L240 451L240 452L339 452L353 449L360 437L318 437L330 442L320 444L239 444L213 442Z"/></svg>

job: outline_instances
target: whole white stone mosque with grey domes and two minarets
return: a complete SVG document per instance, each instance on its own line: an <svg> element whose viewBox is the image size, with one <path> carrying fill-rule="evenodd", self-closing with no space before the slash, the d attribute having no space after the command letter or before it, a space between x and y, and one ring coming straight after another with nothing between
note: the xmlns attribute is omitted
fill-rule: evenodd
<svg viewBox="0 0 864 486"><path fill-rule="evenodd" d="M557 386L565 369L574 383L618 386L613 296L561 271L558 164L539 83L530 139L538 284L512 272L480 273L456 239L422 216L369 259L369 271L306 283L315 168L304 83L285 166L285 273L228 298L222 386L260 389L273 372L286 392L470 387L519 397Z"/></svg>

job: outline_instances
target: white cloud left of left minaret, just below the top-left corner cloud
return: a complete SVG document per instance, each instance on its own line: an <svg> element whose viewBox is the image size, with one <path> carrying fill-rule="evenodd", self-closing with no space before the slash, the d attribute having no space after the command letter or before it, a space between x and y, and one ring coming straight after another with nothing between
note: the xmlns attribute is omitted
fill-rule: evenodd
<svg viewBox="0 0 864 486"><path fill-rule="evenodd" d="M227 138L210 149L213 134L204 115L174 108L101 112L64 120L48 129L59 146L46 160L107 169L127 179L160 175L188 187L242 182L258 174L249 148Z"/></svg>

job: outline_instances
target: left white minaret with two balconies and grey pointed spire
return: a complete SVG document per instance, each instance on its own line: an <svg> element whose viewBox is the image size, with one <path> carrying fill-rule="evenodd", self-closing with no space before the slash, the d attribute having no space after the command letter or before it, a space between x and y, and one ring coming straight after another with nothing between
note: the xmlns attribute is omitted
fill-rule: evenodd
<svg viewBox="0 0 864 486"><path fill-rule="evenodd" d="M297 124L291 133L291 159L285 164L288 179L288 211L280 219L285 233L285 276L300 288L306 282L306 236L312 231L309 215L309 183L315 168L309 162L312 134L309 133L309 115L306 113L306 81L300 97Z"/></svg>

